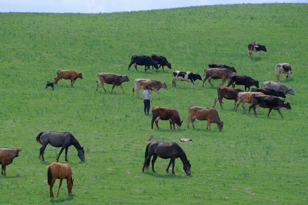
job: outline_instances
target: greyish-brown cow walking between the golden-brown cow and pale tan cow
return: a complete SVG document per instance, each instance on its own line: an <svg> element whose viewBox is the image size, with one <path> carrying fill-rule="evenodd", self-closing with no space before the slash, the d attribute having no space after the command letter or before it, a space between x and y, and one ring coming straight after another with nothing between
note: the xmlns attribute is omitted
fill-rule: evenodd
<svg viewBox="0 0 308 205"><path fill-rule="evenodd" d="M112 90L115 86L120 86L123 93L125 93L124 90L123 90L122 83L123 82L130 82L127 75L118 75L118 74L113 74L113 73L98 73L97 76L98 76L97 91L99 89L99 86L102 85L104 91L107 92L105 87L104 87L104 83L106 83L106 84L112 84L112 89L110 91L111 93L112 93Z"/></svg>

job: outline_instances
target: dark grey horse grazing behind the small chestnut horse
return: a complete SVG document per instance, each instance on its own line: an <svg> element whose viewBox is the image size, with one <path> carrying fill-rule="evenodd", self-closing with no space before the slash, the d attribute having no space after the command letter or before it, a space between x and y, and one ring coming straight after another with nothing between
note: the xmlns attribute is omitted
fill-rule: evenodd
<svg viewBox="0 0 308 205"><path fill-rule="evenodd" d="M36 141L42 145L39 156L39 158L42 161L45 161L44 151L48 144L50 144L53 147L61 147L59 155L56 158L56 161L59 161L59 157L64 149L65 149L65 161L68 161L67 151L68 147L71 145L73 145L78 151L79 158L82 161L85 160L85 151L83 147L81 147L79 141L69 132L55 132L55 131L40 132L36 137Z"/></svg>

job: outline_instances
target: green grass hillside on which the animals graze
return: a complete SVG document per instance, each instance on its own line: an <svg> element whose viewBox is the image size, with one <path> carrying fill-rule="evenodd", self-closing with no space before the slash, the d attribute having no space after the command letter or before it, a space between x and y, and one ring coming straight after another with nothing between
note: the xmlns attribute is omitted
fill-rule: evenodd
<svg viewBox="0 0 308 205"><path fill-rule="evenodd" d="M0 204L307 204L308 135L307 69L308 5L264 4L189 7L111 14L0 13L0 147L21 147L20 157L0 177ZM247 57L248 42L266 45L260 57ZM133 54L161 54L172 70L127 70ZM255 55L255 54L254 54ZM290 63L293 87L287 95L292 110L268 109L255 117L234 101L216 109L224 121L219 132L206 121L196 130L186 128L188 106L211 107L217 96L215 80L196 82L196 89L179 81L171 88L172 72L204 73L209 63L234 66L238 74L260 81L275 79L275 65ZM45 90L57 69L83 72L84 79L60 80ZM126 91L96 92L96 74L127 74ZM134 78L166 81L161 99L153 93L152 106L175 108L184 125L171 131L150 129L143 101L132 98ZM237 86L243 88L242 86ZM111 86L106 86L111 90ZM247 105L246 105L247 107ZM73 170L72 196L66 182L59 198L50 200L47 166L60 151L50 145L45 163L38 160L41 145L35 137L46 130L69 131L85 148L81 162L73 147L68 160ZM149 134L155 140L177 141L191 163L185 176L180 159L176 175L166 174L169 160L158 158L156 171L141 172ZM64 153L60 157L64 161ZM56 182L55 189L59 183Z"/></svg>

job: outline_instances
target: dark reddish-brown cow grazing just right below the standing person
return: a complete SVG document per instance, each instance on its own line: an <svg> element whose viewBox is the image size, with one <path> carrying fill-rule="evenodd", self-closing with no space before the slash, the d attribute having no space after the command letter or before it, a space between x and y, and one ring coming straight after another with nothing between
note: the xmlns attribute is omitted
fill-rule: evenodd
<svg viewBox="0 0 308 205"><path fill-rule="evenodd" d="M153 107L152 108L151 129L153 129L154 121L155 121L157 129L159 129L158 120L160 120L160 119L161 120L169 120L171 130L172 130L171 125L173 126L174 130L176 130L175 124L178 125L178 130L181 129L183 120L181 121L179 112L175 109L164 108L164 107Z"/></svg>

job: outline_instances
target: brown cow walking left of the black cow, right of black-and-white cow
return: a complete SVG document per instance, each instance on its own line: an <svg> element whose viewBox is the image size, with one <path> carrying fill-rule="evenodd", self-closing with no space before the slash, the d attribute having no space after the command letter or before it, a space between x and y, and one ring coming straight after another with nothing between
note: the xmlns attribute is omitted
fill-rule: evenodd
<svg viewBox="0 0 308 205"><path fill-rule="evenodd" d="M208 83L211 84L210 79L221 79L221 85L225 83L226 79L228 79L232 75L236 75L236 73L229 71L226 68L206 68L204 69L204 79L202 87L204 87L205 80L208 80Z"/></svg>

